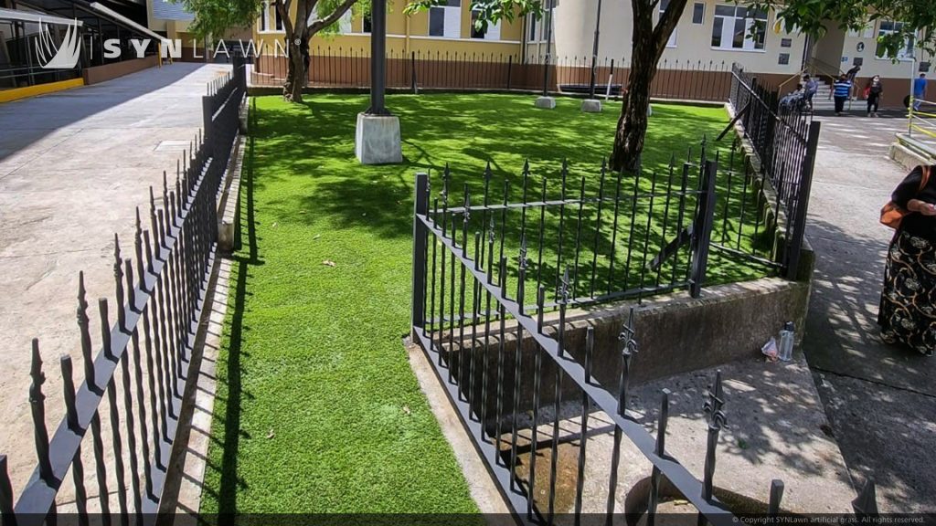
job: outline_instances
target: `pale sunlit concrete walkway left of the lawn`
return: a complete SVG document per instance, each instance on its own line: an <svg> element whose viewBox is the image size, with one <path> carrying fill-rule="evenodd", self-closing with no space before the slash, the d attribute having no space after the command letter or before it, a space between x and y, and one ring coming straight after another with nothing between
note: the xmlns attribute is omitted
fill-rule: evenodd
<svg viewBox="0 0 936 526"><path fill-rule="evenodd" d="M39 338L46 363L51 434L64 414L58 357L76 360L76 383L81 371L79 270L96 354L96 299L114 312L113 234L131 256L135 207L148 210L148 187L161 186L163 170L174 178L201 127L206 82L227 70L175 64L0 105L0 454L16 494L36 465L30 340Z"/></svg>

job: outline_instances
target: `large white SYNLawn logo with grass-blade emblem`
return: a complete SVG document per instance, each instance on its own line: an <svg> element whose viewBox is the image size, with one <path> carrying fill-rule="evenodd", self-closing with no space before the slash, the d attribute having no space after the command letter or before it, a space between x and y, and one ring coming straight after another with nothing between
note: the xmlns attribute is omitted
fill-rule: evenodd
<svg viewBox="0 0 936 526"><path fill-rule="evenodd" d="M102 42L102 53L106 59L120 59L124 54L124 50L132 48L137 58L144 58L153 41L153 38L130 38L122 42L117 38L107 38ZM129 46L126 45L127 43ZM204 54L198 52L197 40L193 39L189 44L188 47L192 50L192 58L205 58ZM183 56L183 41L180 38L158 38L156 46L162 58L181 59ZM240 38L237 41L218 40L214 45L214 49L209 50L207 54L210 54L212 59L216 59L219 55L230 59L234 54L258 57L264 55L265 46L266 42L263 40L260 40L259 43L255 43L253 39L244 41ZM289 58L289 50L279 40L274 42L272 48L273 57L283 56ZM94 43L92 43L88 51L91 55L89 58L94 58ZM56 46L52 39L49 24L39 22L39 36L36 37L36 56L40 66L45 69L73 69L78 65L80 52L81 39L77 20L68 24L65 37L59 46Z"/></svg>

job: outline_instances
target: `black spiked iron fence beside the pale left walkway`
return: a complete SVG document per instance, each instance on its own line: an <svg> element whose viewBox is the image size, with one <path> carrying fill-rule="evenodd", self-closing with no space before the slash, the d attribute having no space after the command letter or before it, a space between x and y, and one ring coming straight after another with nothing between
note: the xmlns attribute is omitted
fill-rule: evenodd
<svg viewBox="0 0 936 526"><path fill-rule="evenodd" d="M232 76L212 82L204 100L204 138L197 137L183 154L174 184L164 172L161 196L150 188L148 226L138 208L132 257L124 258L114 235L115 302L97 301L101 334L96 356L79 274L81 373L76 384L71 358L60 359L66 416L51 440L42 391L45 372L39 340L33 340L29 402L37 467L14 499L7 457L0 455L4 526L54 523L62 504L56 497L69 474L75 493L66 510L77 513L79 524L89 523L89 510L95 522L99 518L104 524L154 523L192 376L189 366L218 235L216 196L238 133L245 86L242 64L235 65ZM94 475L86 475L88 456L82 455L89 430Z"/></svg>

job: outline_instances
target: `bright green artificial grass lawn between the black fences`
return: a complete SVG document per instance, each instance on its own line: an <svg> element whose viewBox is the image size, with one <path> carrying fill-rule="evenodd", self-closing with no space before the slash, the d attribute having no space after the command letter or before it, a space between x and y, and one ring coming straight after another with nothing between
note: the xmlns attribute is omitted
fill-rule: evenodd
<svg viewBox="0 0 936 526"><path fill-rule="evenodd" d="M435 194L448 163L454 188L477 188L490 160L495 180L517 187L524 158L551 177L566 157L570 178L592 186L620 104L585 114L578 100L557 103L389 96L405 161L364 167L354 135L366 97L257 99L203 513L476 511L401 343L413 176L431 169ZM727 120L721 109L654 105L645 167L684 155ZM719 278L712 266L716 280L764 272L724 265Z"/></svg>

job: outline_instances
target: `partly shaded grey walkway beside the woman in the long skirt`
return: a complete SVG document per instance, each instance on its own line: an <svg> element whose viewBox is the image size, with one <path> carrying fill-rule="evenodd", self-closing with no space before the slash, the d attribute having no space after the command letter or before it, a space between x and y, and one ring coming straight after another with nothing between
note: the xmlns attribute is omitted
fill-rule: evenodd
<svg viewBox="0 0 936 526"><path fill-rule="evenodd" d="M854 115L817 117L807 228L816 273L804 350L856 488L871 476L882 511L934 512L936 359L881 343L876 325L893 235L878 219L905 175L887 148L906 120Z"/></svg>

